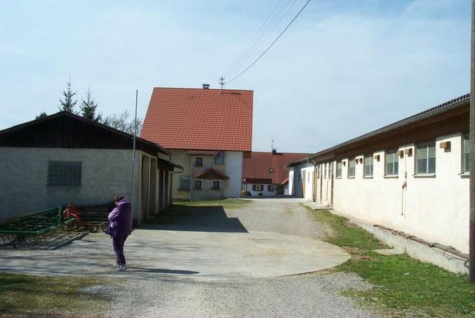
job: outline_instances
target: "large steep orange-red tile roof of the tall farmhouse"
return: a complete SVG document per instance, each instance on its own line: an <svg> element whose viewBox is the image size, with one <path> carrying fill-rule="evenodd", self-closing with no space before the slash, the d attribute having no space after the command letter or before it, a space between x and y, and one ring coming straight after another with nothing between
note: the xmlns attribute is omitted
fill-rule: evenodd
<svg viewBox="0 0 475 318"><path fill-rule="evenodd" d="M250 151L253 91L155 87L140 133L166 149Z"/></svg>

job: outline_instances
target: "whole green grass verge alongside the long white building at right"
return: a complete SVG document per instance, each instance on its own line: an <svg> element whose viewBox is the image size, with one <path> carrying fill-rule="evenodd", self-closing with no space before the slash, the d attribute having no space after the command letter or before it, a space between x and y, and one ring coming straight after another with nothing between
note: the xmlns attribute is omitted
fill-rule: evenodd
<svg viewBox="0 0 475 318"><path fill-rule="evenodd" d="M382 305L385 314L401 316L475 317L475 284L467 275L410 258L407 254L382 256L373 249L383 245L372 234L329 211L312 211L333 232L324 240L348 249L352 258L335 271L354 272L373 284L368 291L347 291L363 303Z"/></svg>

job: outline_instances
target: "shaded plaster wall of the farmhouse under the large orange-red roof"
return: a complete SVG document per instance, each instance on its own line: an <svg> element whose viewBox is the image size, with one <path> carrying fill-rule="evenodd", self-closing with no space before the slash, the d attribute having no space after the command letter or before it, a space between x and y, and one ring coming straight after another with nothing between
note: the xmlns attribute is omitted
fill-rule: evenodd
<svg viewBox="0 0 475 318"><path fill-rule="evenodd" d="M183 166L182 173L173 173L173 200L201 201L241 196L242 152L225 152L224 164L215 164L213 156L189 155L187 150L170 150L170 152L172 153L172 161ZM195 166L196 157L203 159L203 166ZM219 191L211 190L211 187L213 187L212 180L201 180L201 190L194 190L194 176L208 168L215 168L225 173L229 180L217 180L220 181ZM189 191L180 189L180 176L190 177L191 189Z"/></svg>

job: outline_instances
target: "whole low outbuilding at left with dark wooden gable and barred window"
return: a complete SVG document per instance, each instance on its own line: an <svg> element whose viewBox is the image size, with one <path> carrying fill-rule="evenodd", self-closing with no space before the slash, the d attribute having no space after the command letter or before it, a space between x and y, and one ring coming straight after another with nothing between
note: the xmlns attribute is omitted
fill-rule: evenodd
<svg viewBox="0 0 475 318"><path fill-rule="evenodd" d="M133 171L133 135L70 112L0 131L0 219L71 202L107 204L118 194L134 196L134 223L159 213L181 167L160 145L135 143Z"/></svg>

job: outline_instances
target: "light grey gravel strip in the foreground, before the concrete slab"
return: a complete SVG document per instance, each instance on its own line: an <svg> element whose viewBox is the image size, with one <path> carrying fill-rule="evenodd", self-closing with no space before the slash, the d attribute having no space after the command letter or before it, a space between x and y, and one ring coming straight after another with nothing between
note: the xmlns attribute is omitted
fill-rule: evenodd
<svg viewBox="0 0 475 318"><path fill-rule="evenodd" d="M354 274L303 274L274 279L131 280L114 291L109 317L375 317L346 289L370 286Z"/></svg>

